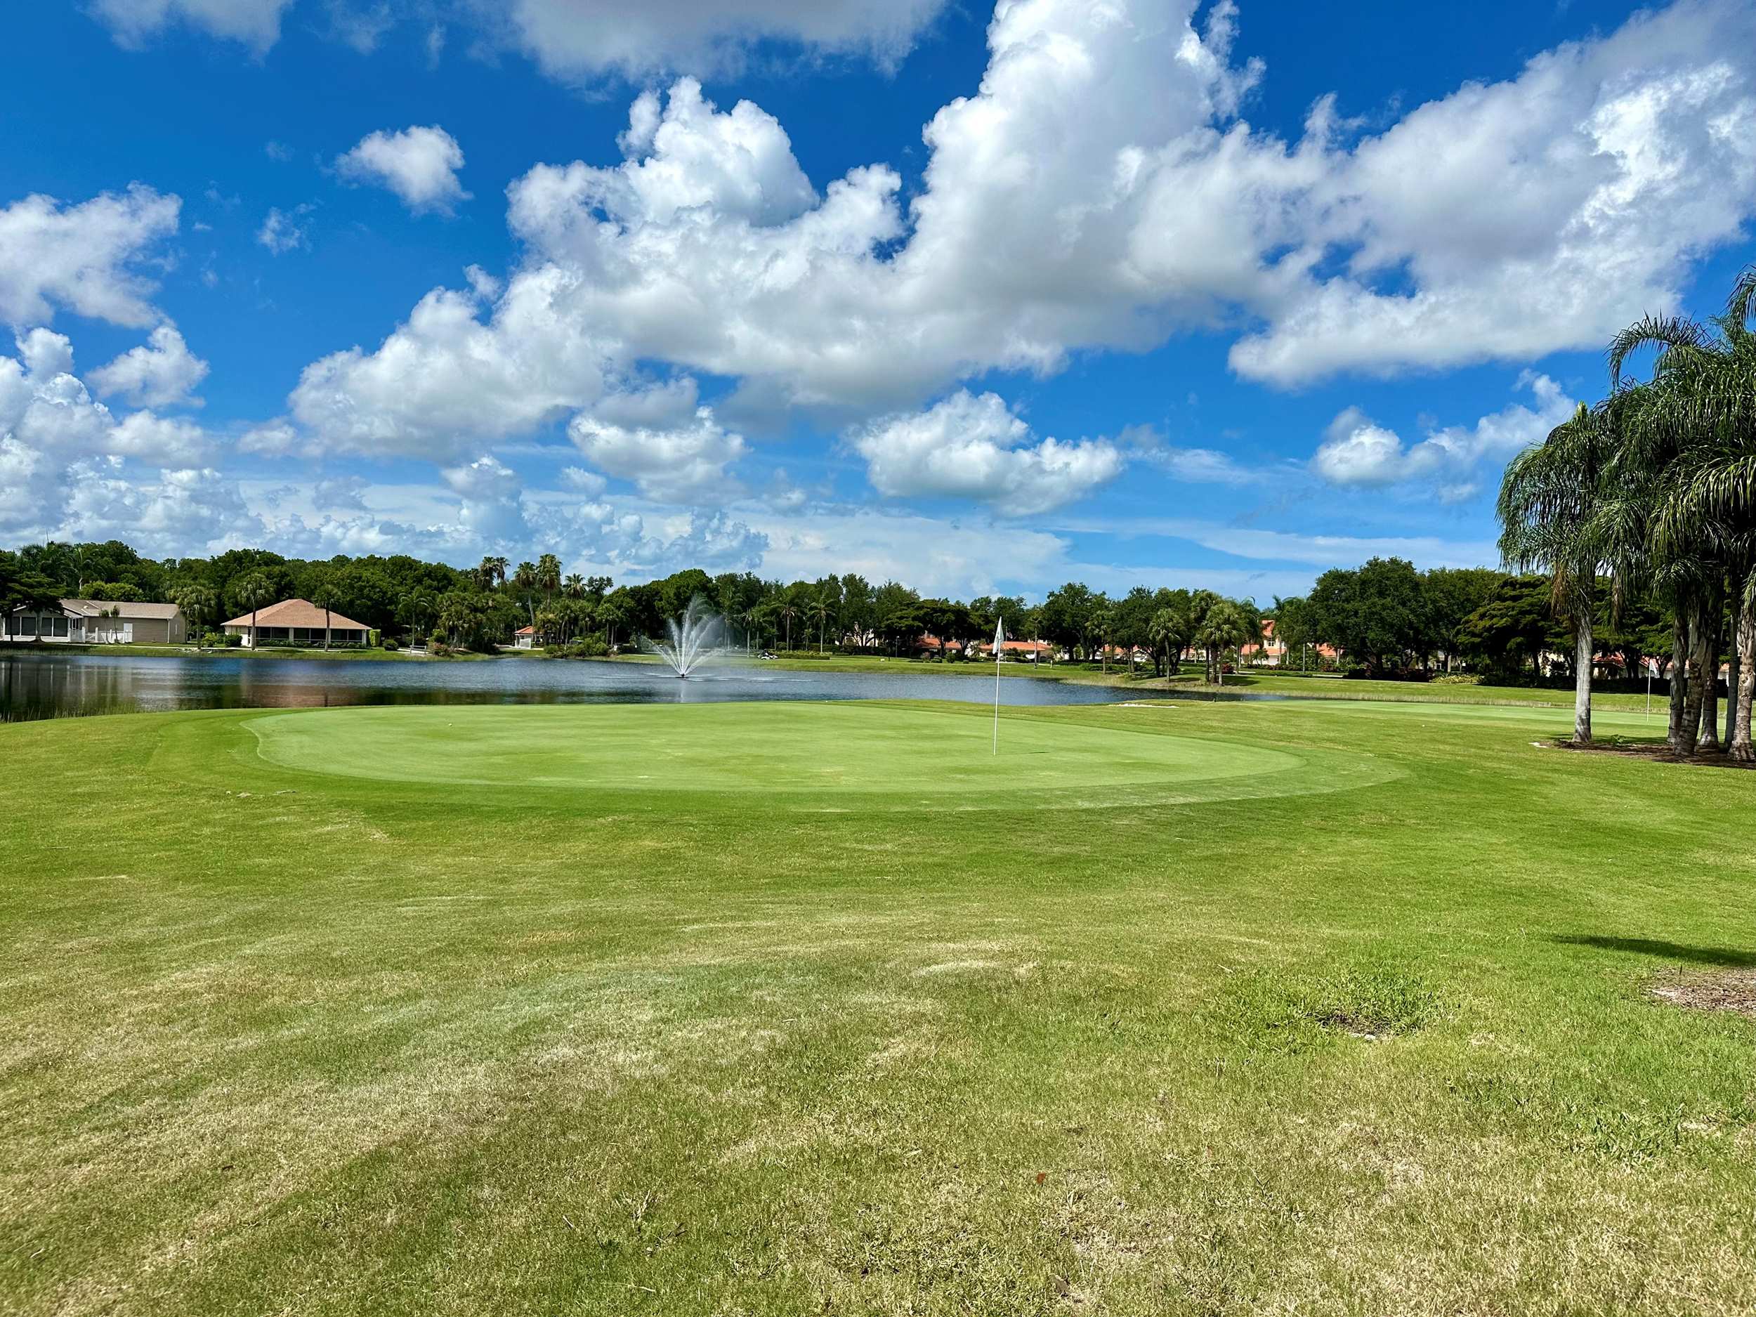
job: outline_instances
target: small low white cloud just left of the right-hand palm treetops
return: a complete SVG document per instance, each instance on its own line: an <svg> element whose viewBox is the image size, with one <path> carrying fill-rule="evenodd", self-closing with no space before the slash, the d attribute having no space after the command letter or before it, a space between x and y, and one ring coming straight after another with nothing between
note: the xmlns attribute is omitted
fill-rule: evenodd
<svg viewBox="0 0 1756 1317"><path fill-rule="evenodd" d="M1421 481L1442 500L1466 499L1477 492L1473 474L1482 462L1505 462L1573 414L1575 402L1549 376L1524 376L1519 386L1531 390L1535 406L1514 402L1473 427L1433 430L1412 446L1349 407L1329 423L1312 471L1331 485L1385 488Z"/></svg>

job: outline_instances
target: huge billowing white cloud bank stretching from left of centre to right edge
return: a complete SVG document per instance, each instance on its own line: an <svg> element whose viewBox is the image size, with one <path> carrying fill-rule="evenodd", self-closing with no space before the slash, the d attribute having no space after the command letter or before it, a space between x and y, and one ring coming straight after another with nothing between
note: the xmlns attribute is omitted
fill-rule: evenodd
<svg viewBox="0 0 1756 1317"><path fill-rule="evenodd" d="M1756 212L1747 5L1686 0L1366 139L1322 102L1291 146L1236 118L1263 70L1231 58L1233 7L1203 30L1194 11L1001 4L906 209L885 165L813 190L753 105L716 111L688 79L646 93L620 165L509 188L525 258L499 300L478 286L446 342L411 323L318 363L295 416L328 441L423 434L457 411L451 381L485 378L492 437L664 360L736 379L722 413L846 420L1240 316L1259 328L1233 365L1273 383L1529 358L1670 300Z"/></svg>

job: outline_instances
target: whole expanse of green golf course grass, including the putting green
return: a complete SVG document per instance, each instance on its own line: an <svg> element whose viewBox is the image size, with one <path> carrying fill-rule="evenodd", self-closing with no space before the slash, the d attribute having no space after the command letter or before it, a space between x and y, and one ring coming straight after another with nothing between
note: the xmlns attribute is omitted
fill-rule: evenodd
<svg viewBox="0 0 1756 1317"><path fill-rule="evenodd" d="M1756 774L1568 720L0 727L0 1308L1747 1312Z"/></svg>

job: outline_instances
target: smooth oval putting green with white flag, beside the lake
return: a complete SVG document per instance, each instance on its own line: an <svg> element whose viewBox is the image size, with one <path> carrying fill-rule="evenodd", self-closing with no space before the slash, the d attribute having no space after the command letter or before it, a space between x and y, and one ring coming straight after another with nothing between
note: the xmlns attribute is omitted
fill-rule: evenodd
<svg viewBox="0 0 1756 1317"><path fill-rule="evenodd" d="M309 709L249 722L269 764L376 781L578 792L901 797L978 808L1017 794L1278 795L1313 787L1287 750L1117 727L890 704L402 706ZM1370 757L1364 757L1370 766ZM1382 778L1380 773L1366 776Z"/></svg>

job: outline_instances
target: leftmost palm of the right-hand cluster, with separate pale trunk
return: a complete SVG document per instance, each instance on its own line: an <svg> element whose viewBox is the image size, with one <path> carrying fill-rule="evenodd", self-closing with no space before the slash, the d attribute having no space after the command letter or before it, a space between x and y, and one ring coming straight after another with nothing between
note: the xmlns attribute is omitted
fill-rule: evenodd
<svg viewBox="0 0 1756 1317"><path fill-rule="evenodd" d="M1500 481L1500 555L1512 571L1547 571L1551 604L1573 623L1575 745L1591 745L1593 616L1605 560L1598 504L1616 453L1608 416L1580 404L1512 458Z"/></svg>

